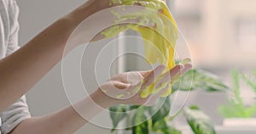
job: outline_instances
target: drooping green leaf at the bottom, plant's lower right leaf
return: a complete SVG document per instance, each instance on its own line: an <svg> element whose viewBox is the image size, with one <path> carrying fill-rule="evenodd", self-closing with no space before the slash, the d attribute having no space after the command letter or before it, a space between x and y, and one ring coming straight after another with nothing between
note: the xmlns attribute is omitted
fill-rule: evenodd
<svg viewBox="0 0 256 134"><path fill-rule="evenodd" d="M195 134L216 134L210 118L196 106L184 109L183 114Z"/></svg>

